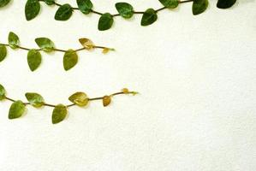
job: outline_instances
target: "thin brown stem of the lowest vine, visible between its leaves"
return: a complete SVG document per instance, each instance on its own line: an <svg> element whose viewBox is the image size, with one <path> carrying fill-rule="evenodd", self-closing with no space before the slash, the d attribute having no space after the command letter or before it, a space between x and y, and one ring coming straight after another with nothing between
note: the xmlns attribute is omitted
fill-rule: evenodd
<svg viewBox="0 0 256 171"><path fill-rule="evenodd" d="M113 93L113 94L111 94L110 95L110 97L115 97L115 96L118 96L118 95L122 95L122 94L126 94L126 95L128 95L128 94L132 94L132 95L136 95L136 94L138 94L138 92L136 92L136 91L128 91L128 92L122 92L122 91L120 91L120 92L116 92L116 93ZM10 98L10 97L5 97L5 99L6 100L9 100L10 102L16 102L16 100L15 99L13 99L13 98ZM88 101L96 101L96 100L103 100L104 99L104 97L93 97L93 98L88 98ZM31 105L30 103L23 103L24 105ZM43 104L44 106L47 106L47 107L51 107L51 108L55 108L57 105L55 105L55 104L51 104L51 103L44 103ZM72 103L72 104L68 104L68 105L66 105L66 107L67 108L70 108L70 107L72 107L72 106L75 106L76 104L75 103Z"/></svg>

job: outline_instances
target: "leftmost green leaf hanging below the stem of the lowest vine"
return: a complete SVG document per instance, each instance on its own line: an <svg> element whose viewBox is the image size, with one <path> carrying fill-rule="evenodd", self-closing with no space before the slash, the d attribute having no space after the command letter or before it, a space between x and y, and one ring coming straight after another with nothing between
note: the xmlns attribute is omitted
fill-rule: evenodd
<svg viewBox="0 0 256 171"><path fill-rule="evenodd" d="M9 119L12 120L21 117L21 115L24 114L25 110L25 104L21 102L21 100L12 103L9 109Z"/></svg>

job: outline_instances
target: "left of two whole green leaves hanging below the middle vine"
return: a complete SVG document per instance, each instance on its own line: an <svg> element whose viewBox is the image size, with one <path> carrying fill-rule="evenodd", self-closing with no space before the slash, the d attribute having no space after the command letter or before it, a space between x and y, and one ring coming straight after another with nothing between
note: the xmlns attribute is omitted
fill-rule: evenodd
<svg viewBox="0 0 256 171"><path fill-rule="evenodd" d="M29 50L27 53L27 64L31 71L39 68L39 65L42 62L42 56L39 50Z"/></svg>

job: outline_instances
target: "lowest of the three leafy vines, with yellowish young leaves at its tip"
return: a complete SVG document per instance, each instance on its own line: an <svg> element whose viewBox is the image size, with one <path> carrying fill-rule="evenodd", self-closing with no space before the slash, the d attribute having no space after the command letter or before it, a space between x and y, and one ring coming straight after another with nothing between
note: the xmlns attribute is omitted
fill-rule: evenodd
<svg viewBox="0 0 256 171"><path fill-rule="evenodd" d="M104 107L110 105L112 99L117 95L136 95L138 92L129 91L127 88L123 88L122 91L118 91L112 93L110 95L105 95L104 97L88 97L85 92L78 91L68 97L70 104L50 104L46 103L44 97L42 97L39 93L36 92L27 92L25 93L25 97L27 98L27 102L23 102L21 100L15 100L13 98L7 97L7 93L3 85L0 84L0 101L8 100L12 102L9 108L9 119L17 119L20 118L27 110L27 105L33 106L33 108L40 109L43 107L53 108L51 115L51 122L53 124L57 124L63 121L68 115L68 108L73 106L78 106L80 108L86 107L91 101L101 101Z"/></svg>

